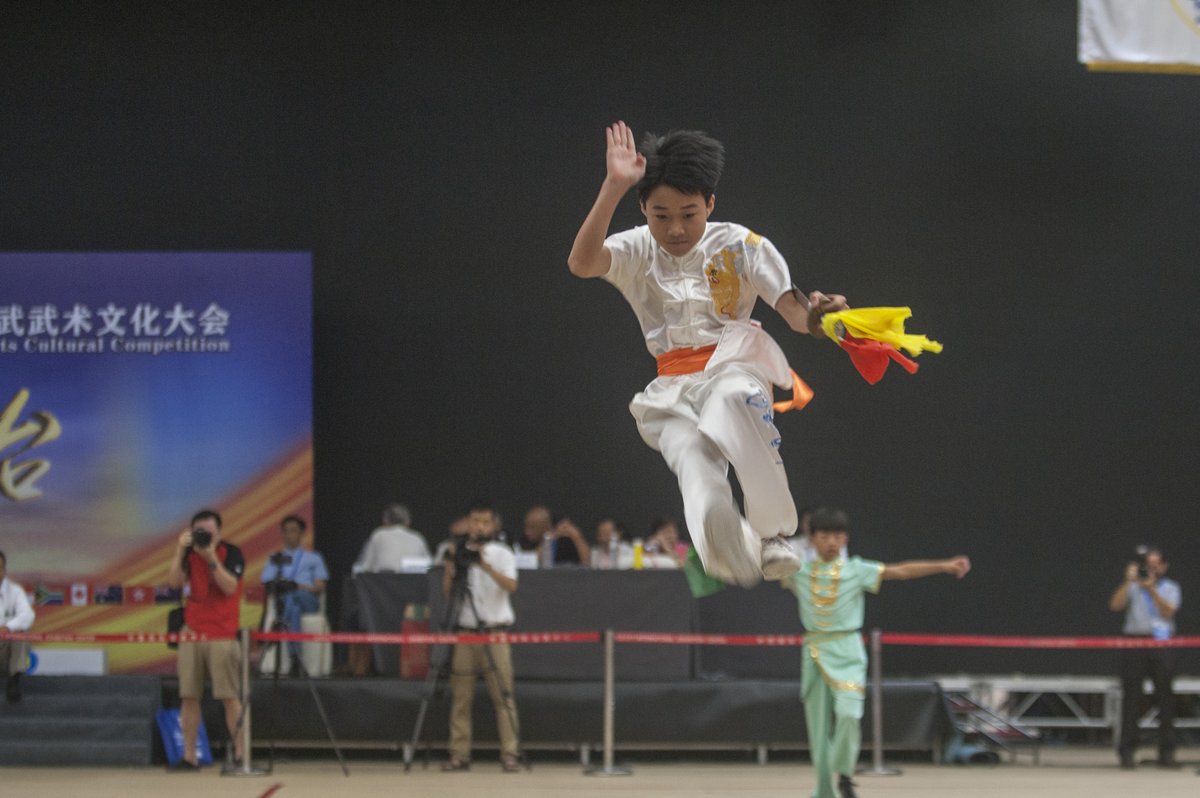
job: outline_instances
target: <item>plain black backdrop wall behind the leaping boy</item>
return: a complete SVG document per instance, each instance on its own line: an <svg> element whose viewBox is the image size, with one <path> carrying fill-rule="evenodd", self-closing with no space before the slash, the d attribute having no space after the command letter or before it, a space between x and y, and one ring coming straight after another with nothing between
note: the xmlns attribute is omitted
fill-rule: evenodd
<svg viewBox="0 0 1200 798"><path fill-rule="evenodd" d="M7 5L0 246L313 251L316 528L338 574L392 500L433 539L478 496L509 528L534 502L641 526L680 512L625 410L653 364L565 258L606 124L708 130L715 218L947 344L871 388L758 313L817 392L781 422L798 502L848 508L864 554L974 559L962 583L889 586L869 622L1106 634L1135 542L1168 548L1186 596L1200 563L1200 79L1088 74L1075 13Z"/></svg>

